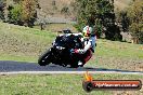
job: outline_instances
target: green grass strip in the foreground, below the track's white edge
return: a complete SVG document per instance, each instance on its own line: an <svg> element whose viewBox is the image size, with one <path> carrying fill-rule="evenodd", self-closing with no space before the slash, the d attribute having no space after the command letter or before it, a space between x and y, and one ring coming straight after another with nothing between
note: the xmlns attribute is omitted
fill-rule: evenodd
<svg viewBox="0 0 143 95"><path fill-rule="evenodd" d="M143 76L93 74L95 80L143 80ZM0 95L139 95L141 91L82 90L83 74L15 74L0 76Z"/></svg>

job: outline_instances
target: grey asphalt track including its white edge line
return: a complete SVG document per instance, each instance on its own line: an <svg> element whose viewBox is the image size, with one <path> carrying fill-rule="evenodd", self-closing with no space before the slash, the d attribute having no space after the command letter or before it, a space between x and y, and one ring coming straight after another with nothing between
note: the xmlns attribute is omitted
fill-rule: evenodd
<svg viewBox="0 0 143 95"><path fill-rule="evenodd" d="M22 63L11 60L0 60L0 74L14 74L14 73L128 73L128 74L143 74L143 71L129 71L119 69L80 67L69 68L57 65L39 66L36 63Z"/></svg>

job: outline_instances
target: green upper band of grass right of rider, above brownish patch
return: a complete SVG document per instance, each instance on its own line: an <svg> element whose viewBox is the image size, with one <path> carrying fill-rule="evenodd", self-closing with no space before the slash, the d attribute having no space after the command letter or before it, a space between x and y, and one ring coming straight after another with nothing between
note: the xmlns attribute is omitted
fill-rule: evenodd
<svg viewBox="0 0 143 95"><path fill-rule="evenodd" d="M118 41L98 40L96 54L100 56L114 56L121 58L143 58L143 45Z"/></svg>

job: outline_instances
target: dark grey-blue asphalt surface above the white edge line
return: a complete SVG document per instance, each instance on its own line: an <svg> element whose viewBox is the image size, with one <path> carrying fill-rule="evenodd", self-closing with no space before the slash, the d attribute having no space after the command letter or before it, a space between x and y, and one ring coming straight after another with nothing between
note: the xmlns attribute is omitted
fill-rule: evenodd
<svg viewBox="0 0 143 95"><path fill-rule="evenodd" d="M11 71L110 71L110 72L139 72L143 71L128 71L118 69L106 69L106 68L93 68L93 67L79 67L69 68L62 67L57 65L39 66L36 63L24 63L24 62L11 62L11 60L0 60L0 72L11 72Z"/></svg>

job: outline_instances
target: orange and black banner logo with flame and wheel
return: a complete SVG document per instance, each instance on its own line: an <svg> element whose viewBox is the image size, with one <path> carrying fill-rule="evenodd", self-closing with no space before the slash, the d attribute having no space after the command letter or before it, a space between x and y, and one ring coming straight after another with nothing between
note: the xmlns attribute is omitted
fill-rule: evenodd
<svg viewBox="0 0 143 95"><path fill-rule="evenodd" d="M92 76L84 73L86 80L82 82L82 87L86 92L100 90L141 90L142 82L140 80L93 80Z"/></svg>

